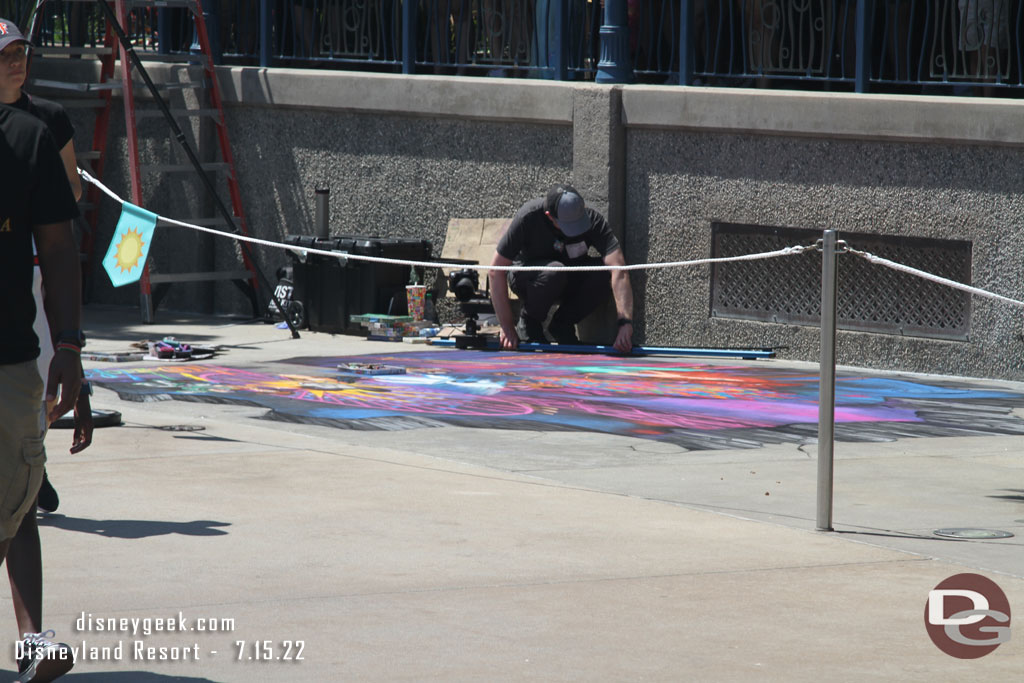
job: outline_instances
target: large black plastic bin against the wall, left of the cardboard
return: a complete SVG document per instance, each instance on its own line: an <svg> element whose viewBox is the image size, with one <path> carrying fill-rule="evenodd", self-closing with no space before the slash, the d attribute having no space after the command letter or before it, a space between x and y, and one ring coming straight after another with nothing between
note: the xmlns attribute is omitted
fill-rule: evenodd
<svg viewBox="0 0 1024 683"><path fill-rule="evenodd" d="M367 238L339 234L316 238L290 234L288 245L305 249L344 252L359 256L379 256L406 261L430 260L430 242L397 238ZM309 329L332 334L365 335L366 328L351 323L352 315L388 313L406 315L406 285L410 266L373 263L309 254L303 260L292 255L295 270L293 298L306 310ZM423 282L423 268L417 268Z"/></svg>

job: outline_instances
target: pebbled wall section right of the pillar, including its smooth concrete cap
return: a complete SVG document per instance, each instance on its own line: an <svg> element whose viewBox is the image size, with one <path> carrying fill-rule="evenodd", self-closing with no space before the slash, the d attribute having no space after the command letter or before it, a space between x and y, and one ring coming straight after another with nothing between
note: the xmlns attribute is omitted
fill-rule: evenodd
<svg viewBox="0 0 1024 683"><path fill-rule="evenodd" d="M970 240L973 284L1024 299L1022 102L641 87L623 100L631 261L707 257L712 221ZM709 317L710 271L643 278L647 339L817 358L817 329ZM972 304L968 342L841 331L838 357L1020 379L1021 309Z"/></svg>

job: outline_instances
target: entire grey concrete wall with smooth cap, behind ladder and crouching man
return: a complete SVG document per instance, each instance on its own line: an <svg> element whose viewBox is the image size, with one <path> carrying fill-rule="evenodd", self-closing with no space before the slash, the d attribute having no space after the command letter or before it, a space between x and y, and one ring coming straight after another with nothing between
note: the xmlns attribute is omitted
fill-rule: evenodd
<svg viewBox="0 0 1024 683"><path fill-rule="evenodd" d="M973 284L1024 298L1024 102L247 68L220 77L250 230L263 239L312 232L313 191L329 186L332 231L425 238L439 252L449 218L511 215L569 178L621 231L631 263L709 256L712 221L834 227L973 241ZM168 144L158 123L144 133L154 153ZM123 191L119 154L105 180ZM158 211L198 202L167 180L160 193L146 190ZM211 251L210 240L159 239L167 266ZM216 240L214 265L227 267L237 257ZM257 251L271 275L288 260ZM96 282L96 300L134 303ZM634 284L643 343L784 345L785 357L817 358L815 328L711 318L707 266ZM175 290L171 307L247 310L229 285ZM839 358L1024 379L1020 317L976 298L967 342L841 332Z"/></svg>

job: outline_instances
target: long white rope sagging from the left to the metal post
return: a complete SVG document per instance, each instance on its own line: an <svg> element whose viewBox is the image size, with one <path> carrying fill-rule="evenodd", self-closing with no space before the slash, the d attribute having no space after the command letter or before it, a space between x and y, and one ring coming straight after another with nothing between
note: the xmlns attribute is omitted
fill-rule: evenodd
<svg viewBox="0 0 1024 683"><path fill-rule="evenodd" d="M119 204L125 204L125 200L118 197L112 189L106 185L96 180L94 177L89 175L87 171L78 169L78 174L82 176L86 182L91 182L96 185L104 195L110 197L112 200ZM698 258L689 261L671 261L665 263L635 263L632 265L563 265L563 266L549 266L549 265L483 265L483 264L463 264L463 263L445 263L441 261L408 261L398 258L387 258L384 256L369 256L364 254L350 254L348 252L337 252L328 251L325 249L310 249L307 247L298 247L296 245L286 245L280 242L270 242L268 240L257 240L256 238L250 238L243 234L233 234L231 232L224 232L223 230L218 230L212 227L205 227L203 225L194 225L191 223L185 223L179 220L174 220L173 218L165 218L164 216L158 216L161 221L169 223L171 225L177 225L180 227L187 227L189 229L199 230L201 232L208 232L210 234L218 234L220 237L230 238L232 240L238 240L240 242L248 242L254 245L260 245L263 247L271 247L275 249L285 249L287 251L292 251L300 254L314 254L316 256L327 256L331 258L338 259L349 259L352 261L369 261L371 263L390 263L394 265L412 265L424 268L467 268L471 270L479 270L487 272L490 270L506 270L506 271L541 271L541 270L574 270L574 271L589 271L589 270L644 270L644 269L657 269L657 268L677 268L689 265L705 265L709 263L727 263L730 261L753 261L757 259L766 258L777 258L779 256L794 256L797 254L803 254L807 251L814 251L817 249L816 245L809 245L806 247L785 247L784 249L777 249L775 251L763 252L760 254L745 254L743 256L723 256L718 258Z"/></svg>

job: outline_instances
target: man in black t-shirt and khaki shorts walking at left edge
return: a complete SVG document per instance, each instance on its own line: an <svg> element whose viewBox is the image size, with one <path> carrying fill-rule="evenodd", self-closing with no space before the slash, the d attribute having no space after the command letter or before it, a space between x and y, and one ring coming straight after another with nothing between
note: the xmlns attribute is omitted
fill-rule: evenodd
<svg viewBox="0 0 1024 683"><path fill-rule="evenodd" d="M44 420L54 420L75 405L82 379L81 278L71 219L78 214L68 176L45 124L0 105L0 559L6 557L26 515L35 515L43 478ZM35 239L46 292L45 307L54 355L45 387L36 368L39 339L33 332L32 292ZM43 397L54 408L43 416ZM38 533L38 531L37 531ZM22 582L18 582L22 583ZM14 582L12 582L12 586ZM42 591L38 586L26 593ZM51 681L71 669L67 646L39 632L41 614L32 595L13 590L23 633L19 681ZM36 613L33 613L36 612Z"/></svg>

